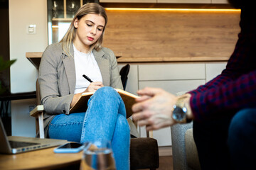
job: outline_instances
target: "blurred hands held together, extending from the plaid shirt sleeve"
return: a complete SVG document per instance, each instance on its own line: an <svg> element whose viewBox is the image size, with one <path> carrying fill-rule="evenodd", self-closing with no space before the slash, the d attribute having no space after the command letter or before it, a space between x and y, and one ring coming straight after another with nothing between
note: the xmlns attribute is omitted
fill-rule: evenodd
<svg viewBox="0 0 256 170"><path fill-rule="evenodd" d="M132 106L132 119L139 126L146 125L146 130L158 130L176 122L171 117L177 97L163 89L149 88L137 91L141 97Z"/></svg>

